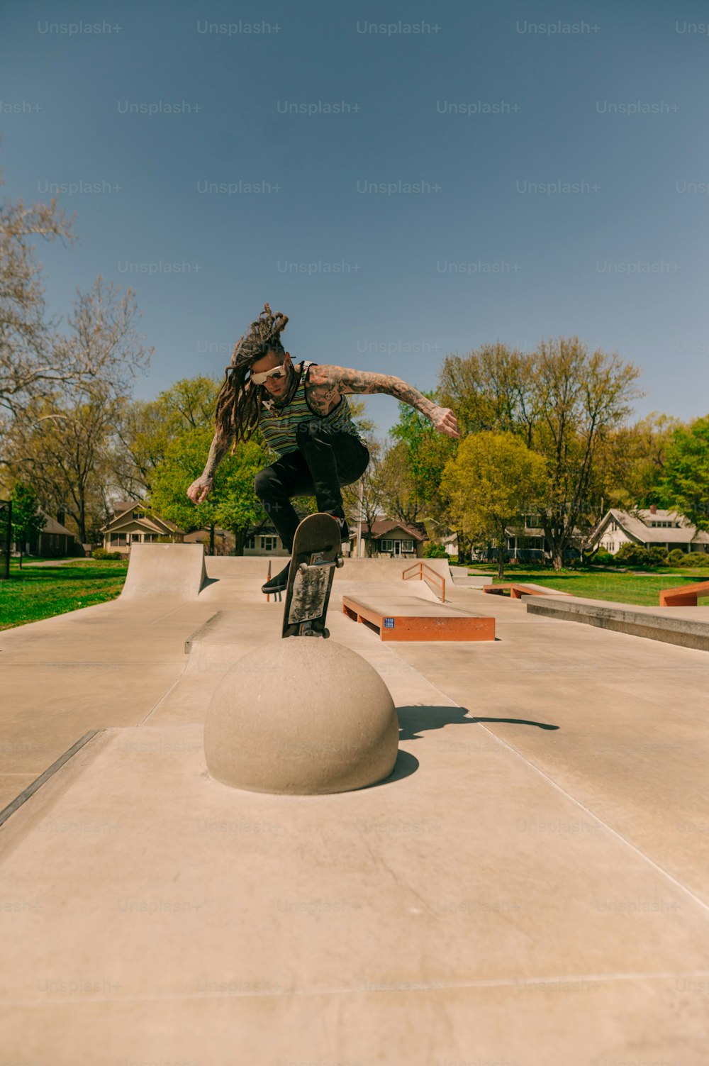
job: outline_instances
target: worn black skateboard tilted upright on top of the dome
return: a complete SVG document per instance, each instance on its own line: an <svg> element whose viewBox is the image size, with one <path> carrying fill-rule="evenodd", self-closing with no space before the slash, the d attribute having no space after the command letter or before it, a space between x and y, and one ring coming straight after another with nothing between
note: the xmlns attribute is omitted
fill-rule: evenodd
<svg viewBox="0 0 709 1066"><path fill-rule="evenodd" d="M295 530L281 636L329 636L325 615L335 567L342 566L340 527L332 515L308 515Z"/></svg>

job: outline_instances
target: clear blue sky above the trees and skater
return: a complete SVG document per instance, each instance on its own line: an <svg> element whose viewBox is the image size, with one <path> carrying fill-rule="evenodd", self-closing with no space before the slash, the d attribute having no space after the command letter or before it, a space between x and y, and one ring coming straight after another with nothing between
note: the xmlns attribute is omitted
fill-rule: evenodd
<svg viewBox="0 0 709 1066"><path fill-rule="evenodd" d="M698 0L10 0L0 195L57 195L49 311L97 275L221 377L263 303L294 361L435 388L448 354L578 337L642 417L709 408L709 9ZM367 398L381 436L397 401Z"/></svg>

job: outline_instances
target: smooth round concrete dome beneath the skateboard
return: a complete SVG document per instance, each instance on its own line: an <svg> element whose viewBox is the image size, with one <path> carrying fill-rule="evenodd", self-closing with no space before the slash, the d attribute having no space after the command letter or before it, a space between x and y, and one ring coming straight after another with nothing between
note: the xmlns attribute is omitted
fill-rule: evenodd
<svg viewBox="0 0 709 1066"><path fill-rule="evenodd" d="M380 675L321 637L255 645L220 682L205 721L212 777L254 792L361 789L389 776L398 747Z"/></svg>

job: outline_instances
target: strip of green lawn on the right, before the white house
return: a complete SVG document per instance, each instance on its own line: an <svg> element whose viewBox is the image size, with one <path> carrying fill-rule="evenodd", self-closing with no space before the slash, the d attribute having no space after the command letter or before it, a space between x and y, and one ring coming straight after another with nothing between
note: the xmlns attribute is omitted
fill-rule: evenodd
<svg viewBox="0 0 709 1066"><path fill-rule="evenodd" d="M498 584L497 563L474 564L470 569L489 574L490 584ZM647 574L617 574L612 570L537 569L521 564L505 567L503 580L531 581L536 585L546 585L549 588L571 593L574 596L583 596L587 599L659 607L661 588L675 588L678 585L709 581L709 569L706 567L682 568L680 574L671 567L664 570L658 567L657 570L648 570ZM700 597L697 603L709 604L709 596Z"/></svg>

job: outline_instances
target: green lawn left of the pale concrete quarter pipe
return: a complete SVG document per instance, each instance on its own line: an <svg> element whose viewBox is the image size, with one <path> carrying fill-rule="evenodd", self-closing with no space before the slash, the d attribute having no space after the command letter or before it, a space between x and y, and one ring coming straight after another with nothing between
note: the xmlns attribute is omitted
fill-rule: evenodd
<svg viewBox="0 0 709 1066"><path fill-rule="evenodd" d="M35 560L32 560L35 562ZM0 630L66 614L115 599L127 561L77 559L61 566L28 566L11 560L10 578L0 580Z"/></svg>

